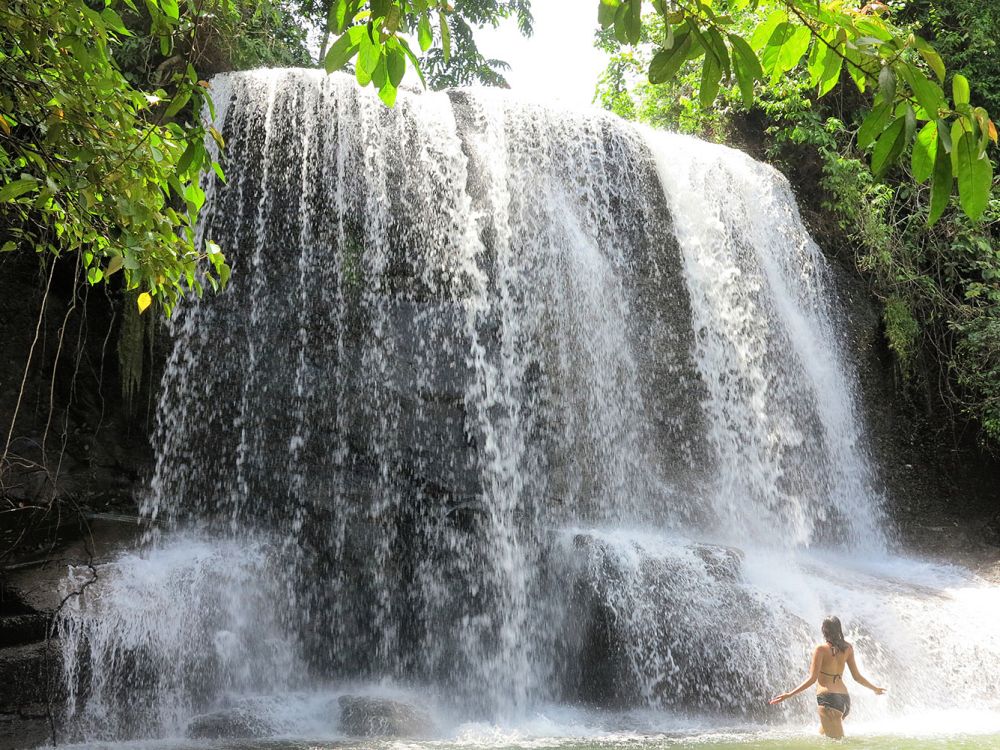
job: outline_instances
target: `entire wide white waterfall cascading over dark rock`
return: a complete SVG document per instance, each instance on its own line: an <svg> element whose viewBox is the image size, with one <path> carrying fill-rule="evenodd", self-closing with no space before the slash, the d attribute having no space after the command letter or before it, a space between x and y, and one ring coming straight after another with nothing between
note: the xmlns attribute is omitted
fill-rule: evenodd
<svg viewBox="0 0 1000 750"><path fill-rule="evenodd" d="M830 611L892 688L858 715L990 707L1000 597L888 554L780 175L498 92L213 94L227 182L199 232L233 279L173 323L163 530L60 623L80 732L386 681L490 720L805 716L764 699ZM951 665L933 689L913 653Z"/></svg>

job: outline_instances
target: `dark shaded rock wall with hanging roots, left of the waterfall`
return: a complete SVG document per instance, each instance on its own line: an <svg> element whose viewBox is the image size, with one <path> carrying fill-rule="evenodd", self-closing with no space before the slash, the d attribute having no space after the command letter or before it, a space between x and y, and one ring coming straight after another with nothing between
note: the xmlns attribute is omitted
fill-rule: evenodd
<svg viewBox="0 0 1000 750"><path fill-rule="evenodd" d="M142 384L127 408L117 356L121 294L74 280L69 261L56 264L49 283L37 257L0 257L0 452L11 436L0 463L0 565L44 550L77 508L133 508L150 462L158 370L149 365L161 355L144 353Z"/></svg>

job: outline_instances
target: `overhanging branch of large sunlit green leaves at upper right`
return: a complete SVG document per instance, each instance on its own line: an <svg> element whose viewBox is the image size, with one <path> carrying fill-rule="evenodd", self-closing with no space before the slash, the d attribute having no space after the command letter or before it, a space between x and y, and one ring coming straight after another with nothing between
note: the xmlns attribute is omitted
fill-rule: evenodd
<svg viewBox="0 0 1000 750"><path fill-rule="evenodd" d="M599 0L598 21L621 44L641 38L636 5ZM914 178L932 182L932 222L947 206L955 178L962 210L973 219L982 215L993 174L987 149L997 141L996 125L972 106L964 76L951 77L946 96L941 56L926 40L893 26L889 14L823 0L729 3L726 12L743 14L737 31L717 3L649 2L647 8L659 14L666 30L649 64L650 83L666 82L693 63L700 65L696 88L703 108L724 84L735 85L749 108L757 82L777 85L803 63L819 97L834 91L846 73L862 94L875 93L856 133L857 147L870 153L872 171L885 174L912 148Z"/></svg>

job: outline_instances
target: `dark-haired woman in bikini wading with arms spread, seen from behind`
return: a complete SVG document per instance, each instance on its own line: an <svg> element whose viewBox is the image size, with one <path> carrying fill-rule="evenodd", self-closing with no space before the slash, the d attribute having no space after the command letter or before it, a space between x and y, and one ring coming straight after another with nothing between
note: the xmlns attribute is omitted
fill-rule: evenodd
<svg viewBox="0 0 1000 750"><path fill-rule="evenodd" d="M851 712L851 696L844 684L844 665L851 670L855 682L882 695L885 688L876 687L864 678L854 662L854 646L844 640L840 620L827 617L823 620L823 640L813 651L812 665L808 679L790 693L782 693L771 699L771 704L781 703L786 698L798 695L814 682L816 683L816 703L819 710L820 734L839 740L844 736L844 719Z"/></svg>

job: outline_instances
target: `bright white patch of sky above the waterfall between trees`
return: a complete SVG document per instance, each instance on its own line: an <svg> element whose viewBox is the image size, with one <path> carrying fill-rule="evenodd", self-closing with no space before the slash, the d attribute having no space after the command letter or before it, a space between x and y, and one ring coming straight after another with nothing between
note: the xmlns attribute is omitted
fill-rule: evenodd
<svg viewBox="0 0 1000 750"><path fill-rule="evenodd" d="M486 57L510 63L504 75L523 97L582 106L594 97L607 55L594 48L594 0L535 0L535 32L525 39L513 20L476 32Z"/></svg>

